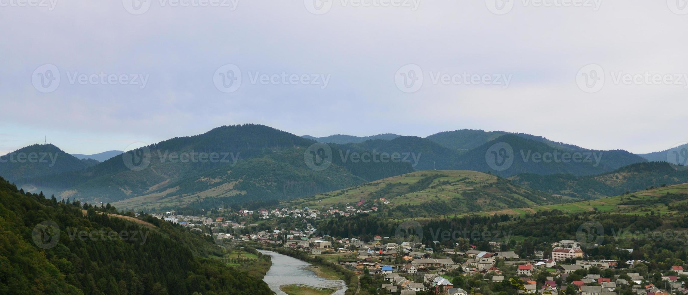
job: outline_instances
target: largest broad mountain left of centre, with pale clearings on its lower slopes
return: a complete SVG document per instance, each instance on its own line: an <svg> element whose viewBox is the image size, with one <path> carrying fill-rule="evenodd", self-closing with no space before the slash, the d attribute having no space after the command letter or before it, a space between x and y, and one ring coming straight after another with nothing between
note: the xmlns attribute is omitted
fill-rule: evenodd
<svg viewBox="0 0 688 295"><path fill-rule="evenodd" d="M333 157L317 171L305 162L316 142L257 124L218 127L117 155L85 171L21 179L28 190L85 201L144 205L222 204L290 199L412 171L407 163ZM340 154L336 146L323 144ZM118 204L121 206L121 203ZM152 205L151 205L152 206Z"/></svg>

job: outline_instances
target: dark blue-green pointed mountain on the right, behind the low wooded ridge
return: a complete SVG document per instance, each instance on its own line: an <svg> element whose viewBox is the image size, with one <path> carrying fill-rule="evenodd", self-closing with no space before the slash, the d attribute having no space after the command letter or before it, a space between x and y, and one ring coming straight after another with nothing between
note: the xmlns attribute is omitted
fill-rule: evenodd
<svg viewBox="0 0 688 295"><path fill-rule="evenodd" d="M520 135L506 134L462 153L458 166L463 170L490 171L509 177L519 173L596 175L647 162L643 157L627 151L563 147L566 149Z"/></svg>

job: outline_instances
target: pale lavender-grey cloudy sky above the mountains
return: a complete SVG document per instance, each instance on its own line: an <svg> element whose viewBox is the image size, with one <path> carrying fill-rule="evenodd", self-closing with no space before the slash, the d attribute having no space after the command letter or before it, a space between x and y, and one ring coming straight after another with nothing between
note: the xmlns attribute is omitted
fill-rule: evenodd
<svg viewBox="0 0 688 295"><path fill-rule="evenodd" d="M688 142L685 0L0 0L0 25L0 155L244 123Z"/></svg>

